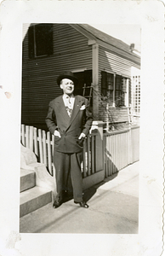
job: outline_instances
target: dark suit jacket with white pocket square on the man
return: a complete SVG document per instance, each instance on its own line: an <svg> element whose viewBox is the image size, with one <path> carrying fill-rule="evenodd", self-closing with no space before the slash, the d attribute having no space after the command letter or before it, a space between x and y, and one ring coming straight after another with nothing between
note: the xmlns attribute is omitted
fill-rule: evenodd
<svg viewBox="0 0 165 256"><path fill-rule="evenodd" d="M54 136L54 150L62 153L77 153L83 149L83 143L78 140L81 132L86 136L92 125L92 112L88 100L83 96L75 96L75 102L69 117L62 96L49 103L46 117L48 130L54 134L60 131L61 137Z"/></svg>

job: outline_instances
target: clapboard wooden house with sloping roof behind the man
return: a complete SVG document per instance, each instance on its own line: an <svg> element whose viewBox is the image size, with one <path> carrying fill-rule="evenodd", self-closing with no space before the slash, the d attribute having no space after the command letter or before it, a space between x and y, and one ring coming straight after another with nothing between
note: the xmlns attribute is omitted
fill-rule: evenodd
<svg viewBox="0 0 165 256"><path fill-rule="evenodd" d="M126 123L130 106L139 115L139 69L132 47L87 24L24 24L21 122L47 129L48 102L62 93L57 76L70 70L94 119Z"/></svg>

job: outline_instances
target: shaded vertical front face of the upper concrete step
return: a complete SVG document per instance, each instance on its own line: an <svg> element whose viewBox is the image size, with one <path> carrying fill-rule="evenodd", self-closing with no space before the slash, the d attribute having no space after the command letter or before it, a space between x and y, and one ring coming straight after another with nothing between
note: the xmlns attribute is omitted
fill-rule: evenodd
<svg viewBox="0 0 165 256"><path fill-rule="evenodd" d="M20 177L20 192L31 189L36 186L36 173L31 172Z"/></svg>

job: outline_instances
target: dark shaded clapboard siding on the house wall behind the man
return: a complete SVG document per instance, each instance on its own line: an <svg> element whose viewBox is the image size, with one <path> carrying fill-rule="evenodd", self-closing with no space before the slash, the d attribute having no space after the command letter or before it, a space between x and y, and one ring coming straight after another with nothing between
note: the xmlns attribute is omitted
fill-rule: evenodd
<svg viewBox="0 0 165 256"><path fill-rule="evenodd" d="M57 76L65 70L92 69L88 38L69 24L54 24L54 54L29 59L28 33L23 40L22 123L46 128L48 102L61 95ZM24 33L27 25L24 26Z"/></svg>

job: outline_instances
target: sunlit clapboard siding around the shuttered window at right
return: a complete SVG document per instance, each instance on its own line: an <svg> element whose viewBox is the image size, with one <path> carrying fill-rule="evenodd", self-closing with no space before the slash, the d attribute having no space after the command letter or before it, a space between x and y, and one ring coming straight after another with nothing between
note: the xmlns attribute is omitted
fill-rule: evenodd
<svg viewBox="0 0 165 256"><path fill-rule="evenodd" d="M124 77L131 78L131 67L139 68L139 65L134 61L129 61L127 58L115 55L102 46L99 47L99 89L101 93L101 71L117 73ZM111 108L111 116L115 122L128 121L128 108ZM116 118L115 118L116 116ZM118 117L118 118L117 118ZM104 119L103 109L100 108L100 119Z"/></svg>

